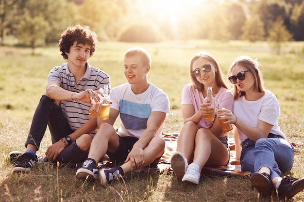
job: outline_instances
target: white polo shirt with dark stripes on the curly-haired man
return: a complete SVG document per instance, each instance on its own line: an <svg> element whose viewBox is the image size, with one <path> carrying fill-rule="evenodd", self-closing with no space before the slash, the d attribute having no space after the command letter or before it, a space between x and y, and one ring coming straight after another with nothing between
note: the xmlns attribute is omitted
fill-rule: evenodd
<svg viewBox="0 0 304 202"><path fill-rule="evenodd" d="M48 82L52 80L60 82L60 87L76 93L83 92L86 89L97 91L103 88L104 85L108 85L109 89L111 88L109 76L100 69L90 66L88 62L86 63L84 77L81 78L78 83L76 83L74 75L70 73L68 63L55 66L50 71ZM88 110L90 104L78 100L61 101L60 104L63 114L72 130L77 130L89 120Z"/></svg>

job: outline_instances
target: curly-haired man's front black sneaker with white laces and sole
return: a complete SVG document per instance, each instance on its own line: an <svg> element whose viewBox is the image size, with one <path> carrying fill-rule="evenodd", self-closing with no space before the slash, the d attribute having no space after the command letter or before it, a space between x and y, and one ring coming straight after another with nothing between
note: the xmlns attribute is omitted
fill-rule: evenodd
<svg viewBox="0 0 304 202"><path fill-rule="evenodd" d="M37 157L26 152L18 157L17 162L13 172L30 172L37 162Z"/></svg>

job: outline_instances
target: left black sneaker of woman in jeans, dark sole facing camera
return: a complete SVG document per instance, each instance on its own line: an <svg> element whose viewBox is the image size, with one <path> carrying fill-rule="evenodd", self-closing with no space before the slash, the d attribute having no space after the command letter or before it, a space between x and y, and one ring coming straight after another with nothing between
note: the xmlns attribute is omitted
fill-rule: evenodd
<svg viewBox="0 0 304 202"><path fill-rule="evenodd" d="M270 175L266 172L254 172L251 176L251 185L255 187L262 197L268 197L273 191Z"/></svg>

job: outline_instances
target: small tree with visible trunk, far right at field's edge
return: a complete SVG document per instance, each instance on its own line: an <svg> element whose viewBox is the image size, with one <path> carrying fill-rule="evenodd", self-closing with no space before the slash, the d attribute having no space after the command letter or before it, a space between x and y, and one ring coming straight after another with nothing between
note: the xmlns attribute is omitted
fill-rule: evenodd
<svg viewBox="0 0 304 202"><path fill-rule="evenodd" d="M284 25L284 20L281 17L278 17L268 32L268 41L273 44L273 47L276 49L276 53L280 54L282 44L292 39L291 33Z"/></svg>

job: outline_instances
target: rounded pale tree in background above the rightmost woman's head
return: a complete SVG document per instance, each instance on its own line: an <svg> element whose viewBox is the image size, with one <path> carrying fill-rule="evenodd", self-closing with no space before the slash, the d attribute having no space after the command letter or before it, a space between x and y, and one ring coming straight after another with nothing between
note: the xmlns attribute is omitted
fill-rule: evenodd
<svg viewBox="0 0 304 202"><path fill-rule="evenodd" d="M243 39L247 39L250 42L265 39L264 23L259 16L252 16L246 20L243 26Z"/></svg>

